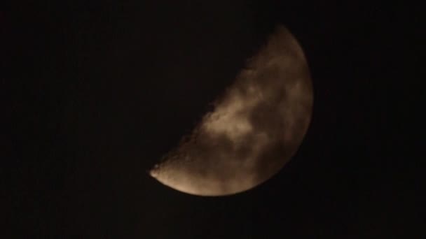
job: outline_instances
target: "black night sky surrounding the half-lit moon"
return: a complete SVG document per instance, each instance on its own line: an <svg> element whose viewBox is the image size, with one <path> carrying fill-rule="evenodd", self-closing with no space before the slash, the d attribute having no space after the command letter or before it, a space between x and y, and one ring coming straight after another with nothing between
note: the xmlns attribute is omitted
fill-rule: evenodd
<svg viewBox="0 0 426 239"><path fill-rule="evenodd" d="M1 4L2 238L425 238L419 6L359 1ZM286 25L312 124L234 196L146 171Z"/></svg>

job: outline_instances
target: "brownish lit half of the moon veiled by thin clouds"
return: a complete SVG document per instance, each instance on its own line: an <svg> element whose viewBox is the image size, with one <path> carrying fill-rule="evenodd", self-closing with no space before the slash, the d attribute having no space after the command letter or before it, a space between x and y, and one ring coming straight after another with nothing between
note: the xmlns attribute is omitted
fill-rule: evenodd
<svg viewBox="0 0 426 239"><path fill-rule="evenodd" d="M296 153L312 103L303 51L286 28L277 27L214 110L149 173L173 189L200 196L252 189Z"/></svg>

